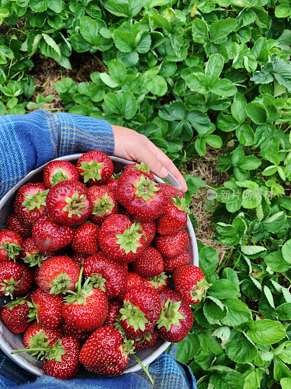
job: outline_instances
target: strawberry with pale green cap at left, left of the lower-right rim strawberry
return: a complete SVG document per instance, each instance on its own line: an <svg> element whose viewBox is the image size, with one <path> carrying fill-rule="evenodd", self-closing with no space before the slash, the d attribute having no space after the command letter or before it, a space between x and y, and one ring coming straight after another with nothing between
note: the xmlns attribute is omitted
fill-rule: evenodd
<svg viewBox="0 0 291 389"><path fill-rule="evenodd" d="M162 312L159 292L148 286L133 286L126 292L123 304L120 324L131 336L152 331Z"/></svg>

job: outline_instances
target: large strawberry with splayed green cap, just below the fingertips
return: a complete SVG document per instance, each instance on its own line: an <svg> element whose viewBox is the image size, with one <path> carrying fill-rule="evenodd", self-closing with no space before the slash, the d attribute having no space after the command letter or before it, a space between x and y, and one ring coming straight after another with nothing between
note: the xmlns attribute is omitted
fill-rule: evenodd
<svg viewBox="0 0 291 389"><path fill-rule="evenodd" d="M153 220L165 210L167 198L155 181L139 171L122 175L117 184L117 200L139 220Z"/></svg>

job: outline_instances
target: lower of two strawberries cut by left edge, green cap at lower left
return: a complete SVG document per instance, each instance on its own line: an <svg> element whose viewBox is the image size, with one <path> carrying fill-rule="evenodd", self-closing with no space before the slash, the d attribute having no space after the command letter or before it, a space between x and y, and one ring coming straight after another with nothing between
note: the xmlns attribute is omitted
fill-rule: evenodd
<svg viewBox="0 0 291 389"><path fill-rule="evenodd" d="M13 296L22 277L22 270L14 262L0 262L0 296Z"/></svg>

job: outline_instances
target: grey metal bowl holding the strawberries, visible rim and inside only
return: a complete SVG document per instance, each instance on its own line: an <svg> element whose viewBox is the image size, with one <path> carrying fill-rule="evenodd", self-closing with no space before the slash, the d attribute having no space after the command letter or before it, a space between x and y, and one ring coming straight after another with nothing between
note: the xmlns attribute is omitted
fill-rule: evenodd
<svg viewBox="0 0 291 389"><path fill-rule="evenodd" d="M72 163L76 163L77 160L81 157L81 154L72 154L64 157L56 158L58 159L65 159L67 161L70 161ZM114 173L119 173L126 165L129 163L132 163L131 161L128 161L126 159L117 158L117 157L110 157L113 161L114 165ZM25 176L21 181L19 181L2 199L0 200L0 226L1 229L8 217L8 215L13 211L13 200L16 195L16 192L18 189L27 184L28 182L39 182L42 181L42 172L44 170L43 165L32 172L30 172L27 176ZM158 183L163 182L163 180L157 176L155 176L155 180ZM169 174L167 177L167 180L176 188L180 189L180 184L178 181ZM194 234L194 230L192 227L192 223L188 217L187 226L185 229L188 232L189 235L189 245L187 248L187 251L191 258L191 264L192 265L199 265L199 259L198 259L198 248L197 248L197 242ZM0 308L2 305L6 303L6 300L9 299L1 297L0 298ZM35 375L42 375L42 362L36 359L34 356L30 355L29 353L19 353L19 354L11 354L11 351L13 350L19 350L24 348L24 344L22 341L23 334L13 334L8 328L3 324L1 318L0 318L0 348L1 350L9 356L18 366L25 369L26 371L29 371L32 374ZM152 346L149 349L140 350L136 353L138 358L143 362L143 364L146 366L148 363L153 362L155 359L158 358L170 345L169 342L166 342L162 340L161 338L158 339L157 343ZM132 372L132 371L138 371L141 367L137 363L137 361L134 358L130 358L129 364L127 369L124 371L124 373ZM81 370L78 374L78 377L88 377L94 376L93 373L89 371L85 371L84 369Z"/></svg>

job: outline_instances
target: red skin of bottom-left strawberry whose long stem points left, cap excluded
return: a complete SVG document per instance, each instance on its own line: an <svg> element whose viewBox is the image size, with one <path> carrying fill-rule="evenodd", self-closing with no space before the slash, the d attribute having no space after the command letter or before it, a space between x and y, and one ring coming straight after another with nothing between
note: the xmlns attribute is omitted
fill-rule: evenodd
<svg viewBox="0 0 291 389"><path fill-rule="evenodd" d="M62 336L59 342L65 348L65 354L61 356L62 361L46 359L43 367L44 374L61 380L74 378L79 368L80 342L70 335ZM53 343L51 342L49 346L52 346Z"/></svg>

